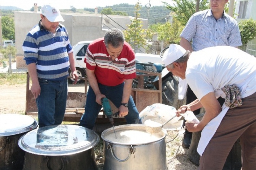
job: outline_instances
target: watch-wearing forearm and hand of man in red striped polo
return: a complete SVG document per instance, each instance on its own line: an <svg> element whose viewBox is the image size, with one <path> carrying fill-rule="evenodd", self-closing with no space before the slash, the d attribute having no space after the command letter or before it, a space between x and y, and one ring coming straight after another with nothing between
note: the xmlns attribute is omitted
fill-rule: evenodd
<svg viewBox="0 0 256 170"><path fill-rule="evenodd" d="M132 92L132 82L133 79L124 80L124 88L123 88L123 97L121 103L128 103L131 92ZM119 116L128 115L128 108L125 106L119 107Z"/></svg>

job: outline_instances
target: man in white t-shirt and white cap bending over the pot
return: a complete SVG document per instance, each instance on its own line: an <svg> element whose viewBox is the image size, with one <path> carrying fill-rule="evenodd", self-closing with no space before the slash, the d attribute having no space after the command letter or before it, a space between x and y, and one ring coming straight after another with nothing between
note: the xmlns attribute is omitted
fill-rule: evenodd
<svg viewBox="0 0 256 170"><path fill-rule="evenodd" d="M198 99L183 105L186 110L204 107L198 123L185 123L190 132L201 131L197 151L199 170L222 170L237 139L242 148L242 169L256 166L256 58L230 46L186 51L171 44L163 56L168 71L182 79ZM218 97L225 98L220 106Z"/></svg>

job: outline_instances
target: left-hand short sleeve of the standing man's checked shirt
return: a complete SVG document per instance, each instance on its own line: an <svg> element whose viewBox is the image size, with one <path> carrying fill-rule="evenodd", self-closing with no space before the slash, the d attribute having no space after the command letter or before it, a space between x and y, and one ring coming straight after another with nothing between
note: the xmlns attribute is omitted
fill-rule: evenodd
<svg viewBox="0 0 256 170"><path fill-rule="evenodd" d="M183 29L180 37L185 38L187 41L191 41L192 38L195 36L197 30L197 22L194 15L190 17L188 20L185 28Z"/></svg>

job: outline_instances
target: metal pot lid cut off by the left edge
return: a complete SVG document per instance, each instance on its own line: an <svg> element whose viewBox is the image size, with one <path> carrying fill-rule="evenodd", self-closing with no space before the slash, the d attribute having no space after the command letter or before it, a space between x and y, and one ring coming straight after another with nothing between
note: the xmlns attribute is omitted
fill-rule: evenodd
<svg viewBox="0 0 256 170"><path fill-rule="evenodd" d="M0 115L0 136L12 136L35 129L38 122L30 116L19 114Z"/></svg>

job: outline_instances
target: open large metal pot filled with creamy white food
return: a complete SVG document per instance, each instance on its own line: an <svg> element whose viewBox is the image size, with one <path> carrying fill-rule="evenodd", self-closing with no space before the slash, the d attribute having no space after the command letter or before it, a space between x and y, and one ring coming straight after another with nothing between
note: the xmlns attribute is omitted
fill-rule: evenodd
<svg viewBox="0 0 256 170"><path fill-rule="evenodd" d="M144 133L147 133L144 124L121 125L114 129L117 139L126 140L123 138L125 136L131 140L110 140L109 136L114 134L113 128L101 133L104 141L103 170L168 170L165 145L167 132L164 129L157 134L149 134L154 136L147 139L144 137Z"/></svg>

